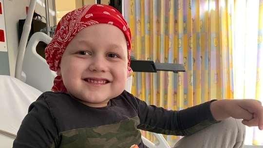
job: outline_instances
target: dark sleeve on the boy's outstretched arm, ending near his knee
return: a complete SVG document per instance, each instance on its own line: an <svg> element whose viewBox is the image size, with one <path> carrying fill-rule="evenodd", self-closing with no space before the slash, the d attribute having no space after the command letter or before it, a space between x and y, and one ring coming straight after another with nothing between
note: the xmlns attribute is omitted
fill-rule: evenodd
<svg viewBox="0 0 263 148"><path fill-rule="evenodd" d="M196 105L181 111L166 110L136 98L140 125L138 129L167 135L186 136L206 128L216 121L210 111L210 103Z"/></svg>

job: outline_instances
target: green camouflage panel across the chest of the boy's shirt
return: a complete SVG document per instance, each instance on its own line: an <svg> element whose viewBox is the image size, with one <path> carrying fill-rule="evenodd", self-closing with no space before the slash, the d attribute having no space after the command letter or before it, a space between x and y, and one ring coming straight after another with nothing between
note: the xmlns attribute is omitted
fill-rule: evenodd
<svg viewBox="0 0 263 148"><path fill-rule="evenodd" d="M51 148L130 148L141 143L139 117L110 125L59 132Z"/></svg>

